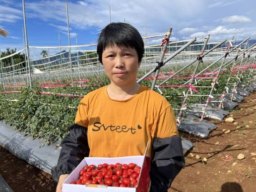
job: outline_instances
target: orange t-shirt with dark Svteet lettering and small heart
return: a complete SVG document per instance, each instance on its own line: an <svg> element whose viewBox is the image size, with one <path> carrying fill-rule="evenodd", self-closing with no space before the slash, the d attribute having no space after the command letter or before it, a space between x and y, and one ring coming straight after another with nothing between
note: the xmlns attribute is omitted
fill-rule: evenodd
<svg viewBox="0 0 256 192"><path fill-rule="evenodd" d="M141 86L125 101L111 99L107 86L80 102L75 123L88 128L90 157L151 156L153 138L178 134L174 111L160 94Z"/></svg>

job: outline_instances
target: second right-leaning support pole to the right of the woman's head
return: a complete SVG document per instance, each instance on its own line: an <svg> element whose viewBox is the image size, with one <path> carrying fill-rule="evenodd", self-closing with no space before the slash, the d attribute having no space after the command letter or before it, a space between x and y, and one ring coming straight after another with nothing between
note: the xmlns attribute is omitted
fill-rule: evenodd
<svg viewBox="0 0 256 192"><path fill-rule="evenodd" d="M197 57L197 61L198 61L198 62L197 62L197 64L196 64L195 68L194 68L194 72L193 72L193 75L192 75L192 78L191 78L191 83L190 83L190 85L189 85L189 87L188 87L187 93L186 93L185 98L184 98L184 100L183 100L183 102L182 102L182 107L181 107L181 110L180 110L180 113L179 113L178 119L177 119L178 123L180 123L180 119L181 119L181 117L182 117L182 113L183 113L183 111L186 109L186 101L187 101L187 99L188 99L188 97L189 97L189 92L190 92L190 90L191 90L191 86L192 86L192 83L193 83L193 80L194 80L194 76L195 76L196 70L197 70L199 64L200 64L200 63L203 63L201 56L202 56L203 53L204 53L204 50L205 50L205 48L206 48L206 45L207 45L207 43L208 43L209 38L210 38L210 35L207 35L207 37L206 37L206 39L205 39L205 41L204 41L204 45L203 45L203 48L202 48L202 50L201 50L201 53L200 53L200 54L198 55L198 57Z"/></svg>

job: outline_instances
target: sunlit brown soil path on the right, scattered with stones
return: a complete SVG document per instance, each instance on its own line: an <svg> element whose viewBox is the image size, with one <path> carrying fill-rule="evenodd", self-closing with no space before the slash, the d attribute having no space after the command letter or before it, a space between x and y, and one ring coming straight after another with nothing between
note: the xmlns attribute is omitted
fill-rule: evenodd
<svg viewBox="0 0 256 192"><path fill-rule="evenodd" d="M256 191L256 93L246 97L228 117L235 121L209 119L218 127L205 139L184 136L194 143L192 154L201 159L185 157L185 168L168 192ZM231 132L225 134L223 129ZM237 159L240 153L245 159ZM202 162L204 157L206 163Z"/></svg>

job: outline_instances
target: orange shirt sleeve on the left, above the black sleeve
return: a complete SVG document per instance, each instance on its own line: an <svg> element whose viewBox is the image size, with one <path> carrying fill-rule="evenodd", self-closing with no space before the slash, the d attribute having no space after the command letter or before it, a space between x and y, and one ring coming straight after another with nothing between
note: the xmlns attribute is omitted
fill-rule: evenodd
<svg viewBox="0 0 256 192"><path fill-rule="evenodd" d="M89 100L88 96L85 96L78 105L78 110L75 116L75 124L88 127L88 109L89 109Z"/></svg>

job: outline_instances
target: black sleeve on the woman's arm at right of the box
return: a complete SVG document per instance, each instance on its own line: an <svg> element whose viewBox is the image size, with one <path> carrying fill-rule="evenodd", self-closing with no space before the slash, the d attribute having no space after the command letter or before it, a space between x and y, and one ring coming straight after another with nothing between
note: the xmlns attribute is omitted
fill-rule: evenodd
<svg viewBox="0 0 256 192"><path fill-rule="evenodd" d="M181 137L154 138L150 192L167 192L185 165Z"/></svg>

